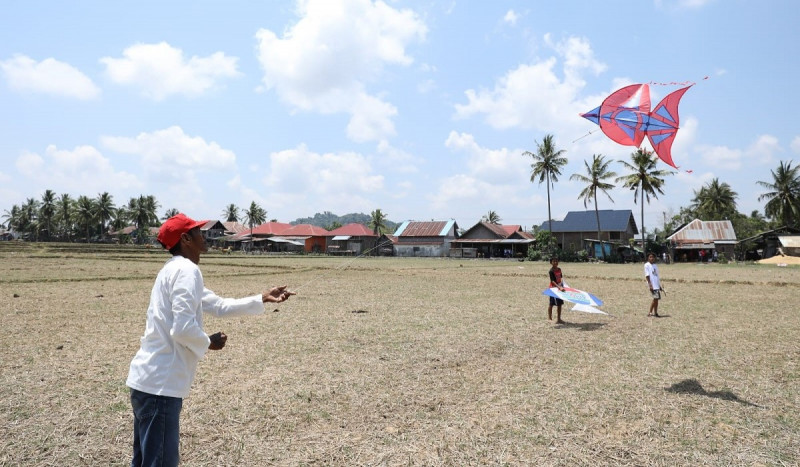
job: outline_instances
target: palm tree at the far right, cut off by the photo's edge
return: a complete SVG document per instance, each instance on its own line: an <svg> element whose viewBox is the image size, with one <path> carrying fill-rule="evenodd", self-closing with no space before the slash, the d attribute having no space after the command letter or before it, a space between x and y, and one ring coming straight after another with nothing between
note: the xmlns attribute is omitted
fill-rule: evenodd
<svg viewBox="0 0 800 467"><path fill-rule="evenodd" d="M764 214L787 227L800 223L800 166L792 167L789 161L772 171L772 183L756 182L769 190L759 195L758 200L767 200Z"/></svg>

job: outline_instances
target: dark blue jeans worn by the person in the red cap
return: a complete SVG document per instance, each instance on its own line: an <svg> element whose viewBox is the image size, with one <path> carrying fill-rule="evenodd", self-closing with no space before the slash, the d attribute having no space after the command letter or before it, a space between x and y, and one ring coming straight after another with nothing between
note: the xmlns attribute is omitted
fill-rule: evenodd
<svg viewBox="0 0 800 467"><path fill-rule="evenodd" d="M177 466L183 399L131 389L133 460L131 467Z"/></svg>

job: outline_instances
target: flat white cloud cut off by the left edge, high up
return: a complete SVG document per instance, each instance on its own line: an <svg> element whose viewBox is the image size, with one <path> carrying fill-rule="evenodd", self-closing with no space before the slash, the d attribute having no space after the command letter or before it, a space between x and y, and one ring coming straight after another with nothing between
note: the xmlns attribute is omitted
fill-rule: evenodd
<svg viewBox="0 0 800 467"><path fill-rule="evenodd" d="M54 58L37 62L25 55L14 55L0 61L0 70L5 74L9 87L17 91L83 100L100 95L100 88L88 76Z"/></svg>

